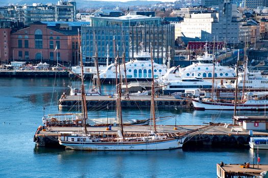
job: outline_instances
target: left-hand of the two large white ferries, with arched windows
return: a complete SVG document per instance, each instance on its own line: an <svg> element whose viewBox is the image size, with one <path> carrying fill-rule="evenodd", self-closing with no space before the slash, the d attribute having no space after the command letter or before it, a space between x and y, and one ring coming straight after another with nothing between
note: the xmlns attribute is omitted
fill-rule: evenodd
<svg viewBox="0 0 268 178"><path fill-rule="evenodd" d="M134 56L134 60L126 63L126 75L128 81L151 81L152 65L151 56L148 52L141 51L139 55ZM160 78L166 73L166 66L153 63L154 78ZM125 78L124 64L120 65L121 78ZM119 70L119 69L117 69ZM119 78L119 72L117 78ZM94 76L96 77L96 76ZM115 81L115 65L110 64L107 69L100 73L100 79L103 83L111 83Z"/></svg>

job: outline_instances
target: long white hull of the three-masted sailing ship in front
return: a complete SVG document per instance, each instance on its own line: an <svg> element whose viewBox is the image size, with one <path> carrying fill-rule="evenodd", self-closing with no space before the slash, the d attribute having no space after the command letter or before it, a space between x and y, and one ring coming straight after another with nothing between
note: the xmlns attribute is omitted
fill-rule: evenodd
<svg viewBox="0 0 268 178"><path fill-rule="evenodd" d="M185 138L171 138L165 140L137 141L137 142L71 142L61 141L66 149L89 151L149 151L170 150L182 147Z"/></svg>

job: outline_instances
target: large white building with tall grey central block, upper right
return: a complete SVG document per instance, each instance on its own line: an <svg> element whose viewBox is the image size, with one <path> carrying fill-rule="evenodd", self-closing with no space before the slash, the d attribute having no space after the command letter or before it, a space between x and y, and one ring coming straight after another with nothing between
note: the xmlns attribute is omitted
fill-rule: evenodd
<svg viewBox="0 0 268 178"><path fill-rule="evenodd" d="M255 20L243 20L235 4L224 3L218 13L191 14L184 18L182 38L184 41L225 41L243 43L246 40L258 40L260 24Z"/></svg>

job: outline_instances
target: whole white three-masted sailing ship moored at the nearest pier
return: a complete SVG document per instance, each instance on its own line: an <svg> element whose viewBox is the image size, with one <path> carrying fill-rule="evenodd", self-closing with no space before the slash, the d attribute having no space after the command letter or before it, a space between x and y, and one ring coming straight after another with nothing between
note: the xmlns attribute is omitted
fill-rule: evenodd
<svg viewBox="0 0 268 178"><path fill-rule="evenodd" d="M152 50L151 50L152 51ZM116 64L116 61L115 61ZM81 66L83 62L81 61ZM156 118L155 118L155 101L154 101L154 65L153 57L151 55L151 67L152 67L152 101L151 101L151 114L154 123L154 129L150 132L134 132L130 134L125 133L123 130L123 120L121 112L121 86L120 83L116 83L117 91L117 118L119 121L120 130L117 134L94 134L88 133L86 124L84 124L83 133L75 134L61 134L59 136L59 143L64 145L66 149L72 150L111 150L111 151L121 151L121 150L168 150L168 149L178 149L182 147L183 142L186 138L185 135L179 135L178 133L168 133L168 132L157 132L156 129ZM83 69L83 68L82 68ZM119 70L120 71L120 70ZM115 72L117 75L117 65L115 65ZM83 74L83 70L82 70ZM120 72L119 72L120 76ZM119 77L120 78L120 77ZM82 75L82 113L83 113L83 123L87 120L87 110L85 105L85 93L84 93L84 82ZM134 132L134 134L133 134Z"/></svg>

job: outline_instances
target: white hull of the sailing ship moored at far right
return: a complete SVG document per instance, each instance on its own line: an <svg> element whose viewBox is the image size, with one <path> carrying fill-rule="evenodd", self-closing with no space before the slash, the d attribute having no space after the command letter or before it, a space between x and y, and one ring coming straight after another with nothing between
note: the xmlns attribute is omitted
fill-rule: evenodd
<svg viewBox="0 0 268 178"><path fill-rule="evenodd" d="M192 100L194 109L197 110L234 110L234 103L217 103ZM249 102L245 104L237 104L237 110L264 110L268 108L266 101L259 100L257 102Z"/></svg>

